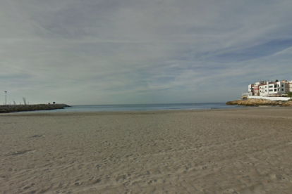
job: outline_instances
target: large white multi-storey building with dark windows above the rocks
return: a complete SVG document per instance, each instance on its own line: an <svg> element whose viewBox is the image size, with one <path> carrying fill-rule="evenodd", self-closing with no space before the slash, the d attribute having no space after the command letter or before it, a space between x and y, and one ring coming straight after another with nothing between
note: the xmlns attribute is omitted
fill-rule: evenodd
<svg viewBox="0 0 292 194"><path fill-rule="evenodd" d="M267 82L260 85L260 96L276 96L277 94L285 94L284 82Z"/></svg>

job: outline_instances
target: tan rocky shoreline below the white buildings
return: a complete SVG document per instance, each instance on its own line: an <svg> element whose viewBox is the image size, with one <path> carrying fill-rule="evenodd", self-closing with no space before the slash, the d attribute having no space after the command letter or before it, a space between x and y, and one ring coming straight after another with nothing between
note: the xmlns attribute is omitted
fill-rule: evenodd
<svg viewBox="0 0 292 194"><path fill-rule="evenodd" d="M259 105L280 105L280 106L292 106L292 101L270 101L265 99L247 99L229 101L226 105L245 105L245 106L259 106Z"/></svg>

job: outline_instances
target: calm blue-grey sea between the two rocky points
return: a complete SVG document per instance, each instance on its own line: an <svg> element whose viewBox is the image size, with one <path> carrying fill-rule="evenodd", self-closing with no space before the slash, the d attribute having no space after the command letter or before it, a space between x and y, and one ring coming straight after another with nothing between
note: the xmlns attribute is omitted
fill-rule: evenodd
<svg viewBox="0 0 292 194"><path fill-rule="evenodd" d="M65 109L39 110L37 112L102 112L102 111L130 111L130 110L200 110L244 108L225 103L178 103L178 104L140 104L140 105L72 105Z"/></svg>

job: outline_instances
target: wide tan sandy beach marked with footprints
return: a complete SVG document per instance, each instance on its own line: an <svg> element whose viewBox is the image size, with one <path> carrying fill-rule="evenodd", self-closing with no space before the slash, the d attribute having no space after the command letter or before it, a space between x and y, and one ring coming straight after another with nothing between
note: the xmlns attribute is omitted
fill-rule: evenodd
<svg viewBox="0 0 292 194"><path fill-rule="evenodd" d="M292 108L0 115L0 193L292 193Z"/></svg>

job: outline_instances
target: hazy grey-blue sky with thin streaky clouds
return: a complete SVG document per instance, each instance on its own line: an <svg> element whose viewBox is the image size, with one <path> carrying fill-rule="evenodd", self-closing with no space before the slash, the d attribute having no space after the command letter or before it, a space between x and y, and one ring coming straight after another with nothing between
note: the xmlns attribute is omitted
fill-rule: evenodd
<svg viewBox="0 0 292 194"><path fill-rule="evenodd" d="M1 104L217 103L292 80L291 0L0 4Z"/></svg>

